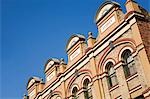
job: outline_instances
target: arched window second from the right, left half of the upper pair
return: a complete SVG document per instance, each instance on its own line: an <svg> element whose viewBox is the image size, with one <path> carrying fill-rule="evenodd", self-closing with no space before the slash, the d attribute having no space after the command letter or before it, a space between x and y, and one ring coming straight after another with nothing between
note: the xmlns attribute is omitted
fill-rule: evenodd
<svg viewBox="0 0 150 99"><path fill-rule="evenodd" d="M115 86L118 84L118 80L117 80L117 76L116 76L116 72L113 68L113 63L109 62L106 64L107 67L107 72L108 72L108 85L109 88Z"/></svg>

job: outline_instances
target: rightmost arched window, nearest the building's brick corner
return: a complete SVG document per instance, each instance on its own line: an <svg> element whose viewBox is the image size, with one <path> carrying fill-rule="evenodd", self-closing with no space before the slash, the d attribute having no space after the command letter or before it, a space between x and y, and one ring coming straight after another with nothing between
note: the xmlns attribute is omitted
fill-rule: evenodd
<svg viewBox="0 0 150 99"><path fill-rule="evenodd" d="M124 69L125 77L128 78L129 76L135 74L136 73L135 63L131 51L128 49L123 51L121 58L123 61L123 69Z"/></svg>

